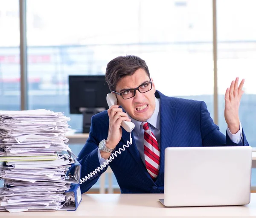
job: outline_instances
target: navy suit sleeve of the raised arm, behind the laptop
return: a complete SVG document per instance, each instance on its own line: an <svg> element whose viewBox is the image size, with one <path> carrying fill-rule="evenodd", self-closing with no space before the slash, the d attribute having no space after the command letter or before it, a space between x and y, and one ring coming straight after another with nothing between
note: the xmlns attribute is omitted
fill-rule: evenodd
<svg viewBox="0 0 256 218"><path fill-rule="evenodd" d="M203 146L248 146L248 142L246 140L244 134L244 128L242 131L243 140L242 142L236 144L232 142L230 137L227 134L226 136L219 131L219 127L214 124L209 111L207 110L207 106L205 102L201 102L200 106L200 124L201 124L201 136Z"/></svg>

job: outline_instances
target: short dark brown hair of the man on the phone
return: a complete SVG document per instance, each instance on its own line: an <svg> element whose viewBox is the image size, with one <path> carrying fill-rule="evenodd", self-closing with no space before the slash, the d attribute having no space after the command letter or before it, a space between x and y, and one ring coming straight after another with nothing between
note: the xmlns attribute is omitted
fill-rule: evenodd
<svg viewBox="0 0 256 218"><path fill-rule="evenodd" d="M140 57L134 55L119 56L108 62L106 69L106 82L111 91L115 91L117 82L125 76L131 76L138 69L143 69L148 74L148 66Z"/></svg>

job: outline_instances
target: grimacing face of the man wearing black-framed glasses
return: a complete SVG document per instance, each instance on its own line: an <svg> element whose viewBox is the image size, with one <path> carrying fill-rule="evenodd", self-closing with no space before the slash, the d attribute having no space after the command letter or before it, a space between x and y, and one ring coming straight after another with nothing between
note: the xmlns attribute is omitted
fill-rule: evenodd
<svg viewBox="0 0 256 218"><path fill-rule="evenodd" d="M126 89L137 88L145 82L149 82L150 78L146 74L145 70L138 69L132 76L123 77L116 85L116 92L121 93ZM118 105L133 118L138 121L146 121L149 119L155 110L155 96L156 91L153 80L152 89L145 93L140 93L136 90L136 94L133 98L123 99L122 96L116 95Z"/></svg>

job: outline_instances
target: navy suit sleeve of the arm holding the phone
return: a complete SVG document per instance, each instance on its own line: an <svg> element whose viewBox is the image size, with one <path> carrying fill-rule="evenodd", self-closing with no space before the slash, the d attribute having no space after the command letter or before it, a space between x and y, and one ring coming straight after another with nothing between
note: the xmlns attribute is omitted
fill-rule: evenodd
<svg viewBox="0 0 256 218"><path fill-rule="evenodd" d="M87 176L89 173L93 172L97 167L100 167L99 157L98 157L98 147L99 142L93 135L94 133L94 119L91 119L90 133L89 137L78 155L78 161L81 164L81 179ZM103 169L99 170L93 177L87 179L82 184L81 193L87 192L99 179L99 176L104 173L108 168L108 165Z"/></svg>

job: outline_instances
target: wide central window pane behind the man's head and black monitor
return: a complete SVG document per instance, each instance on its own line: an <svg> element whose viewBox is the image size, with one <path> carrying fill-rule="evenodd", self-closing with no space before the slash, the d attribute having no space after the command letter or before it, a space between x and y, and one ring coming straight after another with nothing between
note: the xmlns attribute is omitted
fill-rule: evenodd
<svg viewBox="0 0 256 218"><path fill-rule="evenodd" d="M105 74L111 59L134 54L159 91L205 100L212 112L211 1L179 2L27 0L29 109L64 111L81 130L68 75Z"/></svg>

